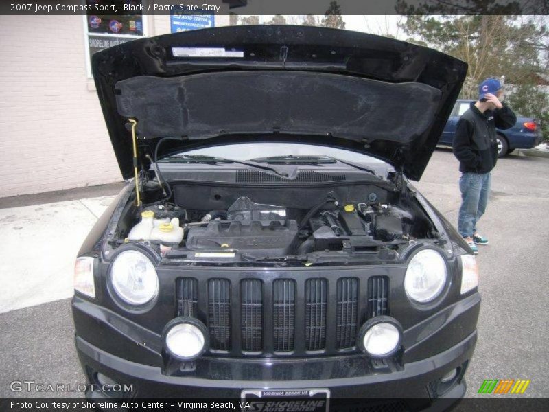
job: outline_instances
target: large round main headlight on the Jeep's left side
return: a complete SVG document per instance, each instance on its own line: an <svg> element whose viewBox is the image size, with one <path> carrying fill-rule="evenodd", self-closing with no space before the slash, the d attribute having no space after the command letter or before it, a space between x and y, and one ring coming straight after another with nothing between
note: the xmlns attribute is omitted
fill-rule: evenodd
<svg viewBox="0 0 549 412"><path fill-rule="evenodd" d="M124 251L113 262L110 284L126 303L143 305L156 297L159 277L152 262L143 253Z"/></svg>

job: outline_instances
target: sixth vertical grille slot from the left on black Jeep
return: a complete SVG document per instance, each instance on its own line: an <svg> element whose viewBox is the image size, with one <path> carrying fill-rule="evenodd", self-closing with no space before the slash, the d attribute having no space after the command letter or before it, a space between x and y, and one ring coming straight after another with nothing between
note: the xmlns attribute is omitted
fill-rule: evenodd
<svg viewBox="0 0 549 412"><path fill-rule="evenodd" d="M344 277L338 280L338 313L336 341L338 347L355 345L358 314L358 279Z"/></svg>

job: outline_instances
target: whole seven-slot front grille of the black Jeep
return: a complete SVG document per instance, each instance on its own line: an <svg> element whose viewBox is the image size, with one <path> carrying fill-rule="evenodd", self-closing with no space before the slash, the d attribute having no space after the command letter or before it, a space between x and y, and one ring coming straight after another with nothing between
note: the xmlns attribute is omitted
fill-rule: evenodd
<svg viewBox="0 0 549 412"><path fill-rule="evenodd" d="M177 316L207 325L213 353L311 356L309 351L353 349L360 325L389 313L388 293L385 276L272 279L246 273L234 281L178 278L175 304Z"/></svg>

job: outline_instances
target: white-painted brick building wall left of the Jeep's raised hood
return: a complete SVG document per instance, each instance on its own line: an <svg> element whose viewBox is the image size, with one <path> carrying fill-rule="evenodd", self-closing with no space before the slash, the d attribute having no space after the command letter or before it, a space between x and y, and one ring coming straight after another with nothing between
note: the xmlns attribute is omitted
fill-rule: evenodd
<svg viewBox="0 0 549 412"><path fill-rule="evenodd" d="M145 18L170 32L170 16ZM0 16L0 39L0 197L121 181L82 16Z"/></svg>

